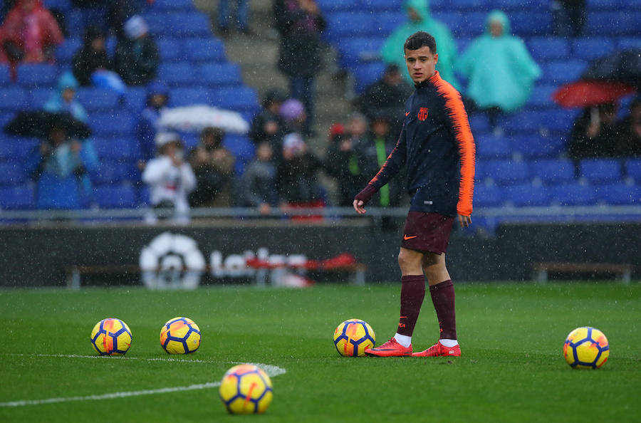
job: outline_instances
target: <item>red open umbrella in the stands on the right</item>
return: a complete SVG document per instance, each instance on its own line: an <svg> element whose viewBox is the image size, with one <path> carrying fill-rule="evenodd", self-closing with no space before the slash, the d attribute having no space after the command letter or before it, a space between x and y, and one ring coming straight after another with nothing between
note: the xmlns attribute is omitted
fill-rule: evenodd
<svg viewBox="0 0 641 423"><path fill-rule="evenodd" d="M578 80L558 88L552 99L564 108L585 108L612 103L635 91L630 85L612 80Z"/></svg>

